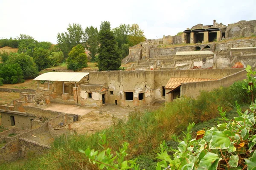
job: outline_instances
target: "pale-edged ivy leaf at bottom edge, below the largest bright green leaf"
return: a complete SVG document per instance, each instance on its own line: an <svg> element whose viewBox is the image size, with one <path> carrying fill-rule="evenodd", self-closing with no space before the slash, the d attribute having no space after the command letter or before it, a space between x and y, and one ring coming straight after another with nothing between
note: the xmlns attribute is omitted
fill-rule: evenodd
<svg viewBox="0 0 256 170"><path fill-rule="evenodd" d="M207 153L199 163L198 170L216 170L218 167L219 157L215 153Z"/></svg>

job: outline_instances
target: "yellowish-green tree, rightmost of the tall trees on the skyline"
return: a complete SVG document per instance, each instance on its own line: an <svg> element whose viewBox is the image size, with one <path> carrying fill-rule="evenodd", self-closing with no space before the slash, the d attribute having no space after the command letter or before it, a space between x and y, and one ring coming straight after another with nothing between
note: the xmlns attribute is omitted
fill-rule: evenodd
<svg viewBox="0 0 256 170"><path fill-rule="evenodd" d="M131 25L128 40L130 47L145 41L144 32L140 29L138 24Z"/></svg>

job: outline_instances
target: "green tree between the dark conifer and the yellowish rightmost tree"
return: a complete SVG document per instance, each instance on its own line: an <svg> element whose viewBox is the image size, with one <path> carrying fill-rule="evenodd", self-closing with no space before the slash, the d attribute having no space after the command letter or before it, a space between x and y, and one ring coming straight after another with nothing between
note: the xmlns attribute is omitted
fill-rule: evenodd
<svg viewBox="0 0 256 170"><path fill-rule="evenodd" d="M130 31L130 25L121 24L119 27L114 28L113 32L119 49L119 53L122 58L126 57L129 54L129 45L128 45L128 34Z"/></svg>

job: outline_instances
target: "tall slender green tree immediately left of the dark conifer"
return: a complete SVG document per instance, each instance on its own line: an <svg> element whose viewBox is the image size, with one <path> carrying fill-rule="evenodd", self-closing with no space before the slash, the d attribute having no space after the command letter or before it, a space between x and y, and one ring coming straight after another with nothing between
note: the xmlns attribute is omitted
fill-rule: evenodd
<svg viewBox="0 0 256 170"><path fill-rule="evenodd" d="M91 62L95 62L95 56L99 48L99 32L93 26L86 27L84 31L84 39L86 40L86 49L90 51Z"/></svg>

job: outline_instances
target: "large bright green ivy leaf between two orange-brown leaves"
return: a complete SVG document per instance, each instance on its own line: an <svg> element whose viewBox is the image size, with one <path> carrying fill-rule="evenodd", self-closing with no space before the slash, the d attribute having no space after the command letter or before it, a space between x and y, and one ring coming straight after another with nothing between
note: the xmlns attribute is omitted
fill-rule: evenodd
<svg viewBox="0 0 256 170"><path fill-rule="evenodd" d="M209 149L228 149L230 139L223 132L213 132L210 140Z"/></svg>

